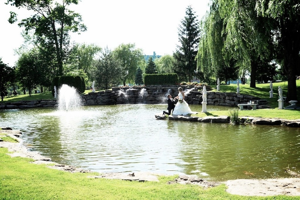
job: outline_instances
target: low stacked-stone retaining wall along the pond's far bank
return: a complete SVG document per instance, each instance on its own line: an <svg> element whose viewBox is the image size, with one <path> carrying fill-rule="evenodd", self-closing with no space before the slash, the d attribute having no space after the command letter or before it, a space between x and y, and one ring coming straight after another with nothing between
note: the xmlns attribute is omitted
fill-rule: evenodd
<svg viewBox="0 0 300 200"><path fill-rule="evenodd" d="M99 92L90 92L82 95L83 105L117 105L117 104L166 104L167 94L173 97L178 95L179 85L150 85L145 87L122 87L112 88ZM185 100L188 104L200 105L202 102L202 86L181 86L185 91ZM266 100L252 95L241 95L235 92L214 92L210 86L206 86L207 104L237 106L249 101L258 102L258 108L267 107ZM33 100L0 103L0 109L23 109L23 108L45 108L54 107L57 100Z"/></svg>

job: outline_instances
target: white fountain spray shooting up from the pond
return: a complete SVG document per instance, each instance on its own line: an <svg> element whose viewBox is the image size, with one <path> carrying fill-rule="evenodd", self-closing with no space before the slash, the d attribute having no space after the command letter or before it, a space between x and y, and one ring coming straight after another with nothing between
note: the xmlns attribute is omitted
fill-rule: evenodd
<svg viewBox="0 0 300 200"><path fill-rule="evenodd" d="M74 110L81 107L80 95L74 87L63 84L58 90L58 109Z"/></svg>

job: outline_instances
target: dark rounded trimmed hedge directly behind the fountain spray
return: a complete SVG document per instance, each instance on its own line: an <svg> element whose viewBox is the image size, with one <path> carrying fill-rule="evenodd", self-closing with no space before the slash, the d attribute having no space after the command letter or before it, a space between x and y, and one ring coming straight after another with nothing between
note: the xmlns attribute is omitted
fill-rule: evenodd
<svg viewBox="0 0 300 200"><path fill-rule="evenodd" d="M54 77L52 81L53 96L54 96L54 86L56 86L56 89L59 90L59 88L63 84L66 84L70 87L73 86L80 93L83 93L85 91L85 81L83 76L58 76L58 77Z"/></svg>

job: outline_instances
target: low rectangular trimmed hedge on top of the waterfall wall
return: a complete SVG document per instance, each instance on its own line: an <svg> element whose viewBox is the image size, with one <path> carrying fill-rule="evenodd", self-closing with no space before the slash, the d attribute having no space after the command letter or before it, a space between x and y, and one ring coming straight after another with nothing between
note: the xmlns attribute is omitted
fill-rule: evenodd
<svg viewBox="0 0 300 200"><path fill-rule="evenodd" d="M176 85L178 83L178 75L170 74L145 74L144 84L147 85Z"/></svg>

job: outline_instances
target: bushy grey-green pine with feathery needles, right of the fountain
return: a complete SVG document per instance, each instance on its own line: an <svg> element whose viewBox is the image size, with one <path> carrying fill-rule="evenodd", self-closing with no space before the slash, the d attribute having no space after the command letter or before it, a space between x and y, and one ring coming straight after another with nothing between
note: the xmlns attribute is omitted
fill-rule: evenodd
<svg viewBox="0 0 300 200"><path fill-rule="evenodd" d="M120 60L108 48L102 51L94 66L96 68L95 80L99 88L107 90L118 85L122 66Z"/></svg>

